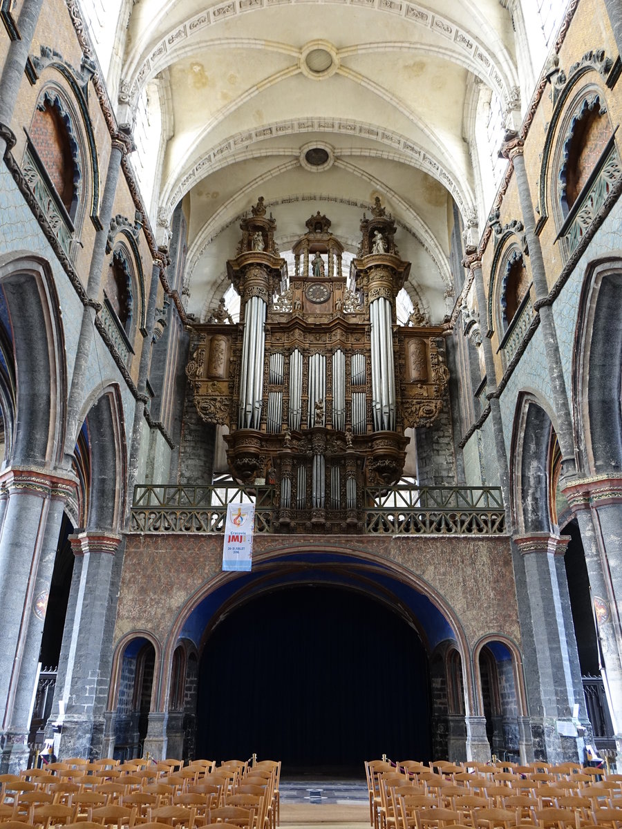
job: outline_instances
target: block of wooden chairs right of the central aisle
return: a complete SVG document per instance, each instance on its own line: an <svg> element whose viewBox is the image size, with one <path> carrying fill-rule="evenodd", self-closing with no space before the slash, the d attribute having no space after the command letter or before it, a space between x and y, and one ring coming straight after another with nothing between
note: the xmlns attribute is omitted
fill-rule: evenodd
<svg viewBox="0 0 622 829"><path fill-rule="evenodd" d="M386 760L365 766L374 829L622 829L622 776L603 769Z"/></svg>

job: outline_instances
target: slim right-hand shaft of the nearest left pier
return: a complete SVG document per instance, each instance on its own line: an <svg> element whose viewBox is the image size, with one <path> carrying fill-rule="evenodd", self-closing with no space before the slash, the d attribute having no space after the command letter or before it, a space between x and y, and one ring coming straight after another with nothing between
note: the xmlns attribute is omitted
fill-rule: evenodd
<svg viewBox="0 0 622 829"><path fill-rule="evenodd" d="M27 737L32 716L32 700L36 687L41 636L46 618L47 601L50 595L51 577L56 561L59 532L67 497L75 490L75 481L68 480L61 485L53 482L51 503L48 507L46 527L41 542L41 554L36 566L32 601L32 612L28 608L22 619L20 642L21 657L17 681L9 691L5 721L7 722L6 745L2 752L3 773L14 773L27 767ZM33 563L34 569L34 563Z"/></svg>

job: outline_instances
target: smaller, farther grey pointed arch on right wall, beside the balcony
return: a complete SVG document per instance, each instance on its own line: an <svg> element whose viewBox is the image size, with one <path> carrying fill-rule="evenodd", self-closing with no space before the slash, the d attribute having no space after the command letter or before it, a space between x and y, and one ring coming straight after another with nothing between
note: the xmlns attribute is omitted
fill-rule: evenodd
<svg viewBox="0 0 622 829"><path fill-rule="evenodd" d="M511 480L513 523L521 531L551 530L547 471L553 429L546 405L522 394L514 417Z"/></svg>

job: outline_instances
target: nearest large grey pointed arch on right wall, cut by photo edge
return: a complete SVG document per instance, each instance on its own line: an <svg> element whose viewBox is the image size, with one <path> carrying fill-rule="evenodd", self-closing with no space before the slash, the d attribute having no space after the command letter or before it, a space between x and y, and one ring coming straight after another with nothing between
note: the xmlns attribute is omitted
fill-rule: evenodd
<svg viewBox="0 0 622 829"><path fill-rule="evenodd" d="M621 302L622 251L588 266L579 303L572 399L586 475L622 469L622 326L615 316Z"/></svg>

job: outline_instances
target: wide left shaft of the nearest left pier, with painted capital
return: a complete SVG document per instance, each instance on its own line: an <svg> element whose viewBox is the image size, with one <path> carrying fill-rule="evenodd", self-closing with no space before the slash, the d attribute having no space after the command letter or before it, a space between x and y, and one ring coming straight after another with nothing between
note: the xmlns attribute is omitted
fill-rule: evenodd
<svg viewBox="0 0 622 829"><path fill-rule="evenodd" d="M12 467L3 473L2 482L8 502L0 536L0 631L5 666L0 671L0 749L7 742L5 732L17 693L29 614L37 598L36 571L55 478L43 469ZM56 539L59 531L60 521Z"/></svg>

